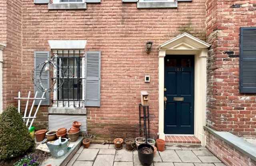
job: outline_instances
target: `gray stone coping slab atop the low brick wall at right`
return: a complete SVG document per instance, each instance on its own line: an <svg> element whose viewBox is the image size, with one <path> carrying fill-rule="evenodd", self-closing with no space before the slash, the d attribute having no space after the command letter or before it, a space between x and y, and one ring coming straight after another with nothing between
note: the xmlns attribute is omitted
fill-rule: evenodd
<svg viewBox="0 0 256 166"><path fill-rule="evenodd" d="M204 130L207 130L220 140L226 142L236 150L256 161L256 146L254 144L251 144L243 140L242 138L231 134L230 132L218 132L216 130L213 130L212 128L209 128L208 126L204 126Z"/></svg>

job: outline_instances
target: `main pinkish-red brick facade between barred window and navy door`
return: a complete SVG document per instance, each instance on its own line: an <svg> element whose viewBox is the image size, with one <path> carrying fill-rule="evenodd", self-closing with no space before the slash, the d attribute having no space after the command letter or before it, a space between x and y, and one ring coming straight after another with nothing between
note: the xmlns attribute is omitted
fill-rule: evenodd
<svg viewBox="0 0 256 166"><path fill-rule="evenodd" d="M188 32L202 40L205 33L205 0L179 2L177 9L142 9L136 3L102 0L87 10L48 10L23 0L22 80L33 70L33 52L49 50L48 40L87 40L86 50L102 51L101 106L88 108L88 132L101 140L138 135L140 91L150 94L150 130L158 132L158 46ZM148 40L154 42L150 54ZM150 75L151 82L144 83ZM24 93L32 82L22 84ZM40 125L47 110L40 110Z"/></svg>

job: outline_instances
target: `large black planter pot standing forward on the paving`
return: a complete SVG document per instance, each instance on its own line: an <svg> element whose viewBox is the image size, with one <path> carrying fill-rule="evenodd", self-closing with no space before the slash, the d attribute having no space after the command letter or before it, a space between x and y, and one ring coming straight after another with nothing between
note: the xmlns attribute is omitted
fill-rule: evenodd
<svg viewBox="0 0 256 166"><path fill-rule="evenodd" d="M148 149L148 151L144 150ZM151 152L150 152L151 151ZM138 157L143 166L150 166L154 159L154 148L149 144L140 144L138 146Z"/></svg>

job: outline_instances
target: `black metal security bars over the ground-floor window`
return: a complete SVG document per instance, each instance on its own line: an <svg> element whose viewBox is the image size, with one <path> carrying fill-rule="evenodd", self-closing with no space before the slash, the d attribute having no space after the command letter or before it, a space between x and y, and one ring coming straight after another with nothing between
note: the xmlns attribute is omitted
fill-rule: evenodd
<svg viewBox="0 0 256 166"><path fill-rule="evenodd" d="M64 54L57 51L57 107L75 107L84 106L83 100L83 80L82 77L82 58L83 54L75 51ZM61 68L61 69L60 69ZM60 72L60 70L62 72Z"/></svg>

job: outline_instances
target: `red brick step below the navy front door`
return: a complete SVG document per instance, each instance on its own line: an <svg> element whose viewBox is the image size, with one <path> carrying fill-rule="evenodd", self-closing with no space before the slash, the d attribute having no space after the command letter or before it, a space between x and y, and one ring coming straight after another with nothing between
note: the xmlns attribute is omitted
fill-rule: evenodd
<svg viewBox="0 0 256 166"><path fill-rule="evenodd" d="M201 144L201 141L198 140L195 136L165 136L165 142L167 144Z"/></svg>

